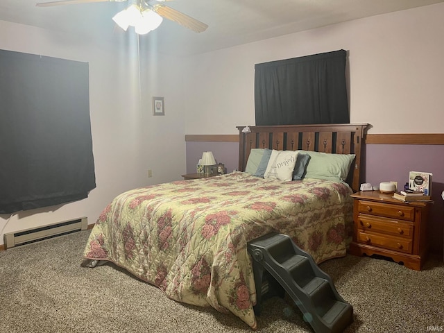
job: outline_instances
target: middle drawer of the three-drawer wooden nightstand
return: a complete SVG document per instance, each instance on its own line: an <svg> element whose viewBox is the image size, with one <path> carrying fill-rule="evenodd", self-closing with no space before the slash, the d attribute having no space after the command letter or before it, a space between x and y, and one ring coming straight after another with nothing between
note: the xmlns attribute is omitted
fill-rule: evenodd
<svg viewBox="0 0 444 333"><path fill-rule="evenodd" d="M370 215L359 214L359 227L367 232L383 232L413 239L413 223L402 223L383 217L377 219Z"/></svg>

